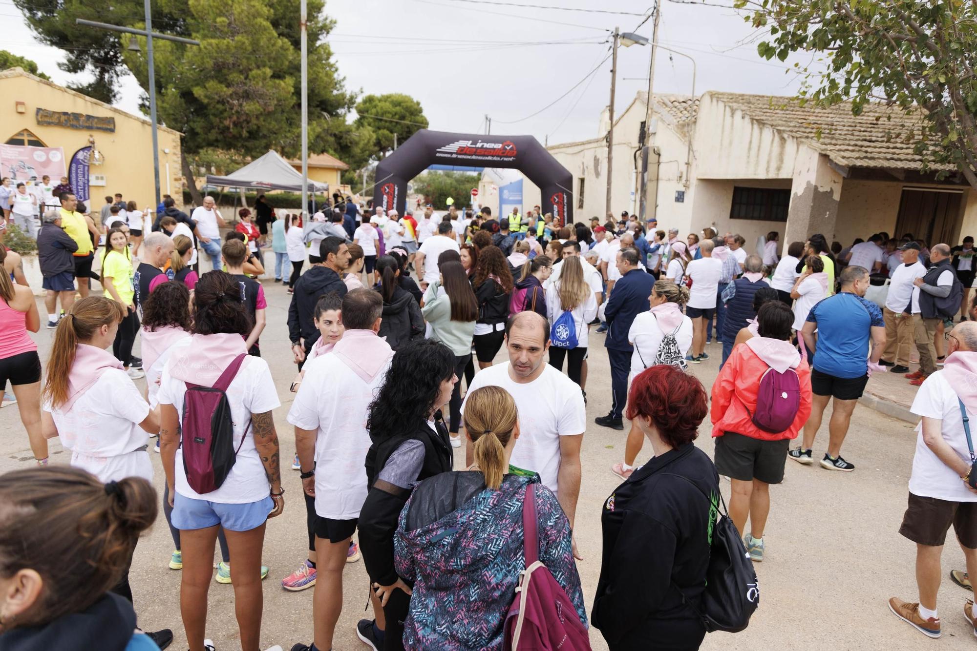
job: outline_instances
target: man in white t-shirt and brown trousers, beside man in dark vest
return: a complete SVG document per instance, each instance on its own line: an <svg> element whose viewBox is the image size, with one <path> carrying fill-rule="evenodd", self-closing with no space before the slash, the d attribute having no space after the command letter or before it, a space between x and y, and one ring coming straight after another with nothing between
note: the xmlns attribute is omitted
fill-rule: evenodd
<svg viewBox="0 0 977 651"><path fill-rule="evenodd" d="M926 267L919 262L919 245L915 242L910 242L900 251L903 264L892 271L889 294L882 307L885 351L878 363L891 366L893 373L909 373L910 354L913 351L913 281L926 275Z"/></svg>

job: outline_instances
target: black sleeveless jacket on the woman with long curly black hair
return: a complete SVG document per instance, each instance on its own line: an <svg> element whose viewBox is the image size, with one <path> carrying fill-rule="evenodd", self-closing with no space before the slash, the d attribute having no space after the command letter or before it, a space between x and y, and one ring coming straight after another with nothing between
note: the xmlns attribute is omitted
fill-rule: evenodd
<svg viewBox="0 0 977 651"><path fill-rule="evenodd" d="M366 453L366 485L370 488L360 510L360 546L370 581L381 586L390 586L398 579L394 568L394 532L397 531L398 518L410 497L410 491L373 484L391 455L409 440L424 444L424 463L418 468L415 483L442 472L450 472L454 453L441 412L435 414L435 428L437 431L432 431L425 423L382 440L370 434L373 445Z"/></svg>

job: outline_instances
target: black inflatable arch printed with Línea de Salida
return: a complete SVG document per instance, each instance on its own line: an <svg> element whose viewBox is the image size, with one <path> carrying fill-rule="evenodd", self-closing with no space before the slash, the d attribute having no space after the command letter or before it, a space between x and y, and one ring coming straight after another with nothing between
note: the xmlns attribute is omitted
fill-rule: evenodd
<svg viewBox="0 0 977 651"><path fill-rule="evenodd" d="M407 182L436 164L518 169L539 187L543 213L552 213L558 224L573 224L573 175L531 136L421 129L376 166L373 205L404 215Z"/></svg>

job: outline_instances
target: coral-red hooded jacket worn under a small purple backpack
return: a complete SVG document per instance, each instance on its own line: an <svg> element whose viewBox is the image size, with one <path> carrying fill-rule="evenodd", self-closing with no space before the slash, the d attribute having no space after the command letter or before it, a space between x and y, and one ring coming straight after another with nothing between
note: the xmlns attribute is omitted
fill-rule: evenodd
<svg viewBox="0 0 977 651"><path fill-rule="evenodd" d="M751 414L756 412L760 379L768 368L779 373L793 369L800 381L800 405L793 423L778 433L764 431L753 425ZM712 435L722 436L733 431L764 441L796 438L811 415L811 368L796 348L779 339L754 337L736 346L719 376L712 385Z"/></svg>

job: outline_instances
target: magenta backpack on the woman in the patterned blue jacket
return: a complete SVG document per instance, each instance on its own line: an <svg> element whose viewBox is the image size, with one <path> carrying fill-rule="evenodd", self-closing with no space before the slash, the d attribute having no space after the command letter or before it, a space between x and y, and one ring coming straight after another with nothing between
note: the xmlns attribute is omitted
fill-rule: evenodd
<svg viewBox="0 0 977 651"><path fill-rule="evenodd" d="M516 598L505 616L505 651L590 650L590 636L573 608L573 601L539 560L536 536L535 484L526 487L523 501L523 553Z"/></svg>

